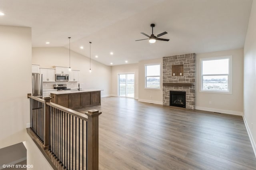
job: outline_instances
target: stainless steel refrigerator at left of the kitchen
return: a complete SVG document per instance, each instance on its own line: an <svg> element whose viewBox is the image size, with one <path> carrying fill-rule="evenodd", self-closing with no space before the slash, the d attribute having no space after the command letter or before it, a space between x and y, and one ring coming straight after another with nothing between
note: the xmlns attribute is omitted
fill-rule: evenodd
<svg viewBox="0 0 256 170"><path fill-rule="evenodd" d="M32 96L43 96L43 75L32 73Z"/></svg>

